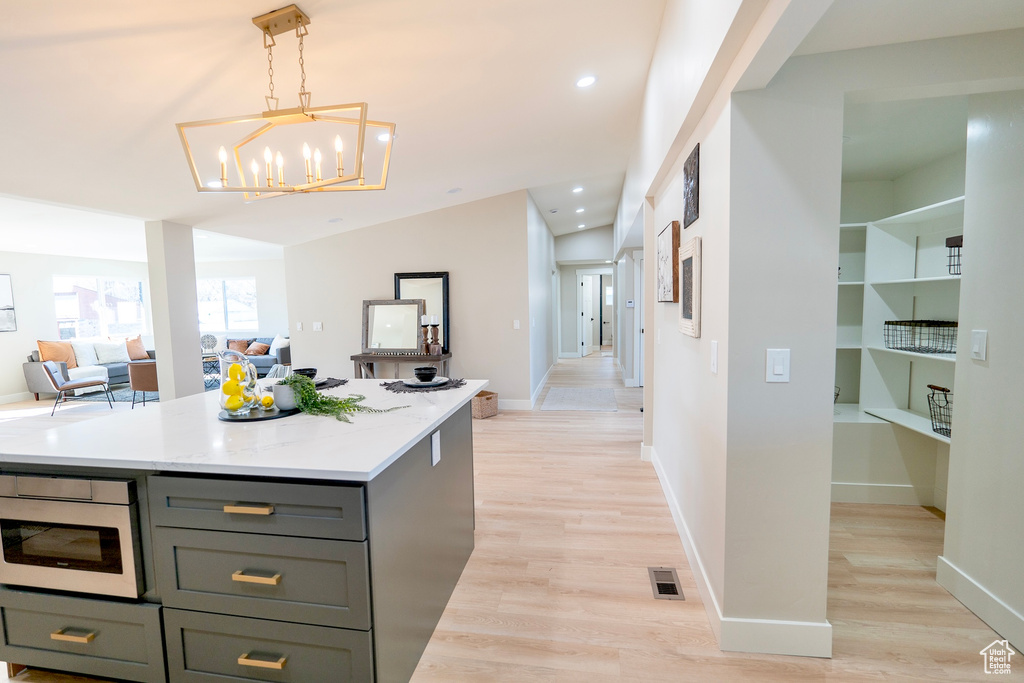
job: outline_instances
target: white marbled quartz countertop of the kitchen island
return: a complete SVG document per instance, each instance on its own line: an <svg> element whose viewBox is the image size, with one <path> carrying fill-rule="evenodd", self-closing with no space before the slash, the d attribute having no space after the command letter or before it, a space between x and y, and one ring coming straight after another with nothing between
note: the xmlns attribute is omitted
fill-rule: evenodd
<svg viewBox="0 0 1024 683"><path fill-rule="evenodd" d="M369 481L487 386L392 393L380 384L349 380L327 393L409 408L355 413L351 424L304 413L228 423L217 419L218 392L208 391L3 439L0 463Z"/></svg>

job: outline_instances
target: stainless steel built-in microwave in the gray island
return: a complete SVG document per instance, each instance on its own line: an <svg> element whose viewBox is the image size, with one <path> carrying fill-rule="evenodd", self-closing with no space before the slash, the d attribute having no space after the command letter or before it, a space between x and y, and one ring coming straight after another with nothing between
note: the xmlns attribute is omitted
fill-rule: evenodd
<svg viewBox="0 0 1024 683"><path fill-rule="evenodd" d="M0 475L0 584L137 598L135 482Z"/></svg>

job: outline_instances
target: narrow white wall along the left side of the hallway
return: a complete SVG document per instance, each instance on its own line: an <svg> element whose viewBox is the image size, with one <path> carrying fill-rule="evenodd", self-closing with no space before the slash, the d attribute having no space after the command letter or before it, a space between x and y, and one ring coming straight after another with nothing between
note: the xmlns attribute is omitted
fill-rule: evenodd
<svg viewBox="0 0 1024 683"><path fill-rule="evenodd" d="M548 372L555 364L555 239L544 215L526 195L526 240L529 270L529 395L530 402L544 387ZM499 398L500 400L500 398Z"/></svg>

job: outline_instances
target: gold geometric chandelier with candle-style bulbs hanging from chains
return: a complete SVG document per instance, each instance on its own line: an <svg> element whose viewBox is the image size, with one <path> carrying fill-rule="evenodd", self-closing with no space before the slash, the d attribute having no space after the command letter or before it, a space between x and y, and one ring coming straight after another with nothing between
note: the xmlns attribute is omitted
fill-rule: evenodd
<svg viewBox="0 0 1024 683"><path fill-rule="evenodd" d="M306 90L302 55L309 17L296 5L256 16L253 24L263 34L267 53L267 111L177 124L196 189L245 193L249 200L384 189L394 124L369 120L366 102L309 105L312 93ZM289 31L295 31L298 38L299 105L281 110L273 95L274 36ZM199 163L194 150L200 155Z"/></svg>

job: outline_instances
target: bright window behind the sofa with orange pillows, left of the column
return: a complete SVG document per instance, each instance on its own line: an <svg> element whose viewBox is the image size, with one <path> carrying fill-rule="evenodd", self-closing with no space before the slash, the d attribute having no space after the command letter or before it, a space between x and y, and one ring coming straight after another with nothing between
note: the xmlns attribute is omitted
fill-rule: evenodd
<svg viewBox="0 0 1024 683"><path fill-rule="evenodd" d="M59 339L144 334L142 283L113 278L53 276Z"/></svg>

